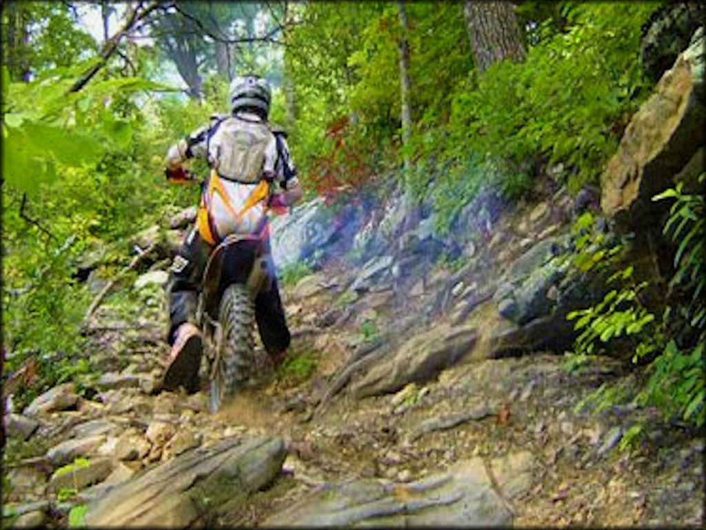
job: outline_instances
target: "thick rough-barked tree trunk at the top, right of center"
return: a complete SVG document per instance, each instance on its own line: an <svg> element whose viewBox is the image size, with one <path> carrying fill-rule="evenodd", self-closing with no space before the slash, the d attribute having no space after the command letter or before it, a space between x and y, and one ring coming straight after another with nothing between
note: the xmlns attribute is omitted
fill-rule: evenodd
<svg viewBox="0 0 706 530"><path fill-rule="evenodd" d="M466 0L463 13L476 66L481 72L503 59L524 59L525 45L513 4Z"/></svg>

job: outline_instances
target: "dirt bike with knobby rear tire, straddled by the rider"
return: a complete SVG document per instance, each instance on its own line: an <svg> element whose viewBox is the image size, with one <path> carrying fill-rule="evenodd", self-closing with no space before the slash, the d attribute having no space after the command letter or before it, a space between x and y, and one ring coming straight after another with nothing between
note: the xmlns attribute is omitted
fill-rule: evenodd
<svg viewBox="0 0 706 530"><path fill-rule="evenodd" d="M255 365L255 298L273 275L267 258L261 237L232 234L213 249L203 271L196 318L213 413L239 390Z"/></svg>

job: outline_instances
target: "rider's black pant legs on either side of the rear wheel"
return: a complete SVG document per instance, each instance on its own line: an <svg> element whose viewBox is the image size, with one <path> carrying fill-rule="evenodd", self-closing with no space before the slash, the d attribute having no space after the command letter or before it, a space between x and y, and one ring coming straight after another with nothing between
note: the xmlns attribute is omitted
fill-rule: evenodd
<svg viewBox="0 0 706 530"><path fill-rule="evenodd" d="M196 305L198 292L201 290L201 276L211 250L196 227L189 230L172 269L169 270L167 296L169 302L169 344L174 343L174 331L184 324L196 324ZM255 319L265 349L270 355L282 353L289 347L289 329L282 309L280 290L273 278L269 290L263 290L255 299Z"/></svg>

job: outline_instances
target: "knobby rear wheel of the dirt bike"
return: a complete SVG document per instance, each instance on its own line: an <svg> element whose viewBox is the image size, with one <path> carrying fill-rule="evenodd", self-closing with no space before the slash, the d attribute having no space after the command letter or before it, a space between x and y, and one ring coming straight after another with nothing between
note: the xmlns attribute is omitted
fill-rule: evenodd
<svg viewBox="0 0 706 530"><path fill-rule="evenodd" d="M233 396L246 382L254 363L255 305L245 285L234 284L223 293L217 337L214 375L211 379L211 411Z"/></svg>

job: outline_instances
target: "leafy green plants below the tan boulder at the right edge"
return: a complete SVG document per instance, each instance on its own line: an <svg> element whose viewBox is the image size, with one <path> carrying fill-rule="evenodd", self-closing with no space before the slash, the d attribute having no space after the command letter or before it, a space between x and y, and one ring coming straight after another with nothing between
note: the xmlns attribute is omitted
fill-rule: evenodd
<svg viewBox="0 0 706 530"><path fill-rule="evenodd" d="M700 175L700 185L704 178ZM648 377L640 389L632 393L633 401L658 406L667 416L678 416L701 427L705 420L706 393L703 379L706 305L699 296L704 285L704 199L702 193L685 193L681 185L654 197L654 200L664 199L674 199L664 225L664 233L676 244L676 273L670 285L681 286L687 295L687 307L679 313L672 305L667 305L662 319L657 319L640 299L640 290L647 283L635 281L632 266L617 271L608 278L616 287L601 302L567 315L570 320L576 319L574 328L582 330L576 338L571 361L573 366L580 365L589 355L606 348L633 351L633 363L649 362ZM585 231L590 223L589 218L580 218L574 228L577 232ZM581 245L586 248L591 244L585 239ZM594 263L609 259L608 254L599 252L602 251L594 248L592 257L598 258L581 259L577 266L588 270ZM668 304L677 301L674 295L667 300ZM614 387L604 385L590 396L590 401L604 407L626 397ZM636 425L628 431L631 436L623 439L623 449L632 444L640 429L641 426Z"/></svg>

